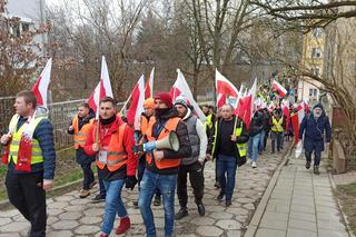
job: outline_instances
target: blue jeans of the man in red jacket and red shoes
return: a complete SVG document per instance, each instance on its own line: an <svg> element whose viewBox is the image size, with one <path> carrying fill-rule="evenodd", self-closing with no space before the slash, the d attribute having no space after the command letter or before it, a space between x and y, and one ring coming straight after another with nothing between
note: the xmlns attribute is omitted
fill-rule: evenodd
<svg viewBox="0 0 356 237"><path fill-rule="evenodd" d="M116 179L112 181L102 180L102 182L107 190L107 197L105 199L105 216L101 230L105 234L110 235L116 214L118 214L120 218L127 216L127 210L121 199L121 189L125 185L125 179Z"/></svg>

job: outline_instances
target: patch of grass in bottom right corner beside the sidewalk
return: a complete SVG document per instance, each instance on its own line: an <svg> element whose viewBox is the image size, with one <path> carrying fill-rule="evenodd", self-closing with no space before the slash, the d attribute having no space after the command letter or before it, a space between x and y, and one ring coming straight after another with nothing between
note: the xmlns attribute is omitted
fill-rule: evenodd
<svg viewBox="0 0 356 237"><path fill-rule="evenodd" d="M356 182L337 186L337 197L339 198L343 211L347 216L349 227L356 235Z"/></svg>

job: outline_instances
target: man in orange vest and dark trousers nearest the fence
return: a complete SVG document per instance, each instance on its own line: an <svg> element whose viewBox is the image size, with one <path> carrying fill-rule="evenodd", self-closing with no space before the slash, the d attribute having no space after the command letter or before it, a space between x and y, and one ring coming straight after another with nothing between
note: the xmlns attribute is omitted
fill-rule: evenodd
<svg viewBox="0 0 356 237"><path fill-rule="evenodd" d="M86 198L90 195L89 189L91 189L96 181L93 178L93 172L91 170L91 162L95 161L93 156L88 156L83 146L88 137L88 132L93 122L93 112L90 111L90 107L87 102L79 105L78 113L72 119L71 125L68 128L68 134L73 135L75 149L76 149L76 160L81 166L83 172L82 189L79 197Z"/></svg>

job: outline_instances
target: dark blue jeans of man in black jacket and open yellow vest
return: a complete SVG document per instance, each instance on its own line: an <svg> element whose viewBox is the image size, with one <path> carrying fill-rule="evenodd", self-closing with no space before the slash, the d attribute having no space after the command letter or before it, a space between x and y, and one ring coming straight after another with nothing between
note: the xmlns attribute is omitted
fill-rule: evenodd
<svg viewBox="0 0 356 237"><path fill-rule="evenodd" d="M226 196L226 200L231 200L235 188L235 177L237 168L236 157L218 155L216 165L218 180L220 182L221 188L220 194Z"/></svg>

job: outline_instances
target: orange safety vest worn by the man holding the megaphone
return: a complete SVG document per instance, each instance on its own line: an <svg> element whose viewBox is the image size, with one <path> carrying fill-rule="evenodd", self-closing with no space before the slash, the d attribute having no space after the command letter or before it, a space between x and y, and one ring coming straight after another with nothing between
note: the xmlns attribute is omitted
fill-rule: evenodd
<svg viewBox="0 0 356 237"><path fill-rule="evenodd" d="M167 137L169 135L170 131L176 131L177 129L177 125L180 121L180 118L170 118L168 119L168 121L166 122L164 129L160 131L158 139L164 139L165 137ZM154 131L154 125L156 124L156 118L152 117L149 120L148 124L148 128L146 131L146 136L148 141L155 141L156 138L152 137L152 131ZM152 164L152 152L148 152L146 154L146 161L151 165ZM161 159L160 161L155 160L156 166L158 169L168 169L168 168L174 168L174 167L178 167L180 164L180 159Z"/></svg>

